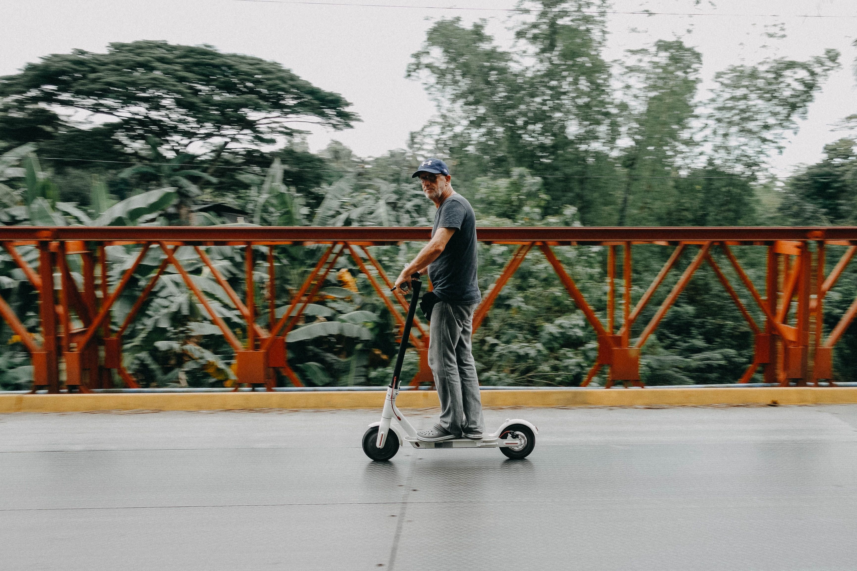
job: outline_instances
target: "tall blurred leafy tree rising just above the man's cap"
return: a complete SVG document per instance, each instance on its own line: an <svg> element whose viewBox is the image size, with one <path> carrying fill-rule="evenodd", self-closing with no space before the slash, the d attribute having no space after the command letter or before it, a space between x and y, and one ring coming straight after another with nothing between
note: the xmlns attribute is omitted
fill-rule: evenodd
<svg viewBox="0 0 857 571"><path fill-rule="evenodd" d="M421 152L451 158L458 175L509 175L514 168L544 177L548 210L577 205L587 222L612 200L608 158L616 130L609 65L602 57L604 2L524 3L518 50L506 51L460 19L441 20L413 55L411 77L423 78L438 118L415 134Z"/></svg>

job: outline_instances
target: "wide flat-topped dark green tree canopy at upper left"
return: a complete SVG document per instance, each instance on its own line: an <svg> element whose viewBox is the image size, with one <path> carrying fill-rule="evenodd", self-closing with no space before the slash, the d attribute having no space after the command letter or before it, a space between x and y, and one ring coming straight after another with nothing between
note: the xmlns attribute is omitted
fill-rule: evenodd
<svg viewBox="0 0 857 571"><path fill-rule="evenodd" d="M277 62L163 41L44 57L0 78L0 101L5 140L126 156L145 155L150 136L177 156L271 145L302 123L357 121L345 98Z"/></svg>

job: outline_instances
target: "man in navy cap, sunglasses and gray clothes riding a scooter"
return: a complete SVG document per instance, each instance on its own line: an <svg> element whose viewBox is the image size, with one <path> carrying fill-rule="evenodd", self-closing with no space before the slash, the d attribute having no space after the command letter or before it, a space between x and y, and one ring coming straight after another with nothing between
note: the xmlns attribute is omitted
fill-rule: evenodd
<svg viewBox="0 0 857 571"><path fill-rule="evenodd" d="M439 422L417 437L424 442L462 436L480 440L482 401L470 352L473 312L482 300L476 282L476 215L467 199L452 190L452 176L440 159L423 161L412 175L417 177L437 207L434 229L431 241L399 274L396 287L410 287L411 275L428 270L439 299L428 333L428 366L440 397Z"/></svg>

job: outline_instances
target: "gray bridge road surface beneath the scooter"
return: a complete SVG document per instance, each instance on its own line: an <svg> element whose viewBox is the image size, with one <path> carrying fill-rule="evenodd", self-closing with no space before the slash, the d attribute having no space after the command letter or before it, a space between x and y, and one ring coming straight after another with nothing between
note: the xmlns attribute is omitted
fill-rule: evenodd
<svg viewBox="0 0 857 571"><path fill-rule="evenodd" d="M855 405L488 410L529 459L386 464L378 415L0 414L0 568L855 567Z"/></svg>

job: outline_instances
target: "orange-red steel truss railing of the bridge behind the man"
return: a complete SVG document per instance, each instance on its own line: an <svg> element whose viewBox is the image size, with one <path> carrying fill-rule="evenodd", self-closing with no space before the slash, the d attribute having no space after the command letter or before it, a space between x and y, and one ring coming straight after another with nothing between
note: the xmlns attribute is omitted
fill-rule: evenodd
<svg viewBox="0 0 857 571"><path fill-rule="evenodd" d="M87 392L111 388L111 370L117 371L123 383L135 388L136 379L125 370L122 360L123 332L151 294L159 277L172 266L183 282L195 294L209 318L222 331L225 340L235 350L238 384L273 390L274 370L279 370L296 386L301 380L289 366L285 350L286 334L299 324L304 310L319 294L330 271L342 256L350 256L372 287L386 304L401 330L407 301L399 292L390 293L393 285L387 272L369 251L373 246L390 246L402 242L428 241L428 228L319 228L319 227L2 227L3 248L39 292L39 330L34 335L21 324L21 319L0 297L0 315L27 348L33 362L36 389L56 393L64 381L66 388ZM639 377L640 350L656 330L682 290L702 265L710 265L723 288L734 301L755 338L752 362L740 378L748 383L759 367L765 381L788 385L816 384L820 379L832 385L832 353L845 330L857 315L857 300L824 335L824 296L834 288L843 271L857 252L857 227L837 228L479 228L478 240L484 243L517 245L517 250L488 289L476 309L473 329L479 327L500 290L515 273L524 258L534 253L543 255L560 278L575 305L598 339L598 354L583 385L590 384L602 367L607 367L606 386L614 383L642 386ZM285 245L325 245L321 257L279 319L274 318L274 248ZM654 281L639 299L632 299L632 253L634 246L654 244L670 248L672 253ZM105 247L122 245L137 248L134 262L122 273L117 283L109 283ZM608 248L606 315L592 308L560 259L554 247L598 245ZM255 259L254 247L267 247L268 314L267 327L258 324L258 300L255 288L242 300L208 258L206 247L244 247L246 279L252 281ZM767 265L764 284L758 287L747 276L745 268L735 257L738 247L765 247ZM36 247L39 264L27 264L19 247ZM183 250L186 259L192 250L202 265L225 290L244 320L245 341L225 324L199 286L195 283L177 254ZM138 266L153 248L159 248L163 260L143 289L123 323L111 319L111 307ZM835 249L834 249L835 248ZM258 248L257 248L258 250ZM716 263L712 253L719 251L728 259L738 282L730 283ZM676 268L682 253L691 253L692 261L680 273L678 282L645 324L638 336L632 336L632 325L639 318L656 290ZM824 267L825 252L836 252L838 262L830 272ZM839 253L841 252L841 256ZM80 256L82 287L69 271L69 257ZM261 258L261 257L260 257ZM617 266L620 271L617 272ZM398 271L398 269L396 269ZM621 280L620 280L621 277ZM621 281L621 319L617 320L617 288ZM752 298L764 323L757 323L741 300ZM264 303L265 300L262 300ZM755 310L754 310L755 312ZM74 318L73 316L76 316ZM428 368L428 327L417 321L411 333L411 343L420 354L420 370L411 384L431 383ZM60 363L64 371L61 378ZM238 386L238 385L237 385Z"/></svg>

